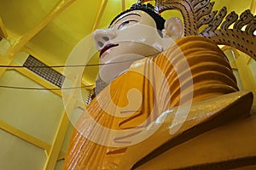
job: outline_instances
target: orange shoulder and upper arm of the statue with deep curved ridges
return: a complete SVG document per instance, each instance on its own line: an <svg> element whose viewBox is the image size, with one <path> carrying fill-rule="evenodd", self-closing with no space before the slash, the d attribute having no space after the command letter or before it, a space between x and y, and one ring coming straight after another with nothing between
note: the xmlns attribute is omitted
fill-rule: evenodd
<svg viewBox="0 0 256 170"><path fill-rule="evenodd" d="M201 101L238 90L228 59L214 42L203 37L177 40L155 63L169 82L171 107L188 102L190 97Z"/></svg>

